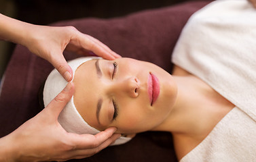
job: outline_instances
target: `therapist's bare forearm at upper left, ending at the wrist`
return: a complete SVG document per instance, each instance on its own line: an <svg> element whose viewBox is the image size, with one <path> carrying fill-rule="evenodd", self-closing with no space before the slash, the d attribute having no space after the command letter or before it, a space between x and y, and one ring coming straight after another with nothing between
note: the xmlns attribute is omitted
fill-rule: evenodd
<svg viewBox="0 0 256 162"><path fill-rule="evenodd" d="M29 30L33 24L21 22L0 14L0 38L24 45L24 40L29 36Z"/></svg>

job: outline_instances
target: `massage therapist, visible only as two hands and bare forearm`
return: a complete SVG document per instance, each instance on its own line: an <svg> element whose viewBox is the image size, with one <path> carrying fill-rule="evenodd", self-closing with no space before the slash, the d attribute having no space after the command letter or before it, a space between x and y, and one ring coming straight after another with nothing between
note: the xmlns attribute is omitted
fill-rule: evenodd
<svg viewBox="0 0 256 162"><path fill-rule="evenodd" d="M79 54L92 51L105 59L120 57L92 36L83 34L72 26L37 26L0 14L0 38L27 47L32 53L48 60L70 81L73 72L62 52L67 49ZM60 111L71 99L74 84L65 90L43 111L26 121L17 130L0 138L0 161L66 161L98 153L119 138L116 128L96 134L72 134L58 123Z"/></svg>

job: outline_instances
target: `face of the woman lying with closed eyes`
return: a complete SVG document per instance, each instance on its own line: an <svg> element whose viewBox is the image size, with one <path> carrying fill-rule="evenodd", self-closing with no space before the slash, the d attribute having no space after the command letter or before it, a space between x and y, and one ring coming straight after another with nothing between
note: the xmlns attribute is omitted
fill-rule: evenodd
<svg viewBox="0 0 256 162"><path fill-rule="evenodd" d="M84 120L98 130L115 126L122 134L156 128L177 96L168 72L130 58L87 61L77 68L73 82L75 107Z"/></svg>

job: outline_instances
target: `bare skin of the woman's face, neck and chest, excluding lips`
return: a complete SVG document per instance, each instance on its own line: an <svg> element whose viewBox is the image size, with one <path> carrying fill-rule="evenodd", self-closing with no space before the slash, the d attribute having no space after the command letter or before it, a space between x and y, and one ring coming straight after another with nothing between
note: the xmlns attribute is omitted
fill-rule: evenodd
<svg viewBox="0 0 256 162"><path fill-rule="evenodd" d="M170 75L145 61L99 59L98 67L102 72L99 77L96 62L90 60L80 65L73 80L75 107L84 120L98 130L113 126L117 133L127 136L148 130L171 132L178 159L202 142L234 108L211 86L176 65ZM147 90L150 73L160 83L160 94L153 105ZM102 99L98 113L100 122L96 117L99 99ZM118 105L115 119L113 99ZM90 108L84 109L86 105Z"/></svg>

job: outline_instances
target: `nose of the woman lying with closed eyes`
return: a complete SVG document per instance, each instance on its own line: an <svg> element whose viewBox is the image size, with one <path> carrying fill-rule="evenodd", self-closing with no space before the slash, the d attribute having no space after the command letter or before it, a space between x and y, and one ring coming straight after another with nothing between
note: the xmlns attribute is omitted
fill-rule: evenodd
<svg viewBox="0 0 256 162"><path fill-rule="evenodd" d="M117 90L128 94L129 97L136 98L139 96L140 82L136 77L129 77L121 80L119 84L116 84Z"/></svg>

